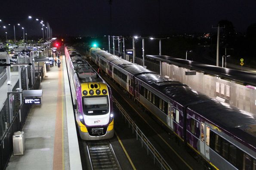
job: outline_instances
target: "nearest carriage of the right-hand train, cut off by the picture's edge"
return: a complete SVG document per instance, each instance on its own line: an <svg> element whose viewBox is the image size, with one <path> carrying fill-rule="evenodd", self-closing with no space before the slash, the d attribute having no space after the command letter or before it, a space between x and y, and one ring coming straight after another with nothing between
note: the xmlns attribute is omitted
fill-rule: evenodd
<svg viewBox="0 0 256 170"><path fill-rule="evenodd" d="M255 115L214 100L193 104L187 113L188 143L200 155L221 169L256 168Z"/></svg>

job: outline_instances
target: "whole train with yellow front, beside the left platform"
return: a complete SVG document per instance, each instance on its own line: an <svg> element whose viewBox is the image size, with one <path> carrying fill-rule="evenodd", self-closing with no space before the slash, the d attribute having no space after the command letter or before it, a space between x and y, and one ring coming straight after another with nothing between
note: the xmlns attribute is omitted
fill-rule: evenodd
<svg viewBox="0 0 256 170"><path fill-rule="evenodd" d="M72 47L65 47L72 101L80 137L102 140L114 136L111 89Z"/></svg>

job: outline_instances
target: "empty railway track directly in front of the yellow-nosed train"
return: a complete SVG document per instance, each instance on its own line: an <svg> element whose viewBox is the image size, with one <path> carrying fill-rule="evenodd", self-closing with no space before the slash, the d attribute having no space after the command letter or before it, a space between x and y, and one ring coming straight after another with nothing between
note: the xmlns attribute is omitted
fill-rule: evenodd
<svg viewBox="0 0 256 170"><path fill-rule="evenodd" d="M92 170L121 170L109 141L89 141L87 150Z"/></svg>

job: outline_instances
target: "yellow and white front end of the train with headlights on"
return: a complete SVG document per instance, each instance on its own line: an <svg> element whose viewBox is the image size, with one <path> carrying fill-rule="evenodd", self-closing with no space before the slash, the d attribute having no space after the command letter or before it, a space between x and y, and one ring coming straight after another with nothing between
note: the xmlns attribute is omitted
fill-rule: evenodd
<svg viewBox="0 0 256 170"><path fill-rule="evenodd" d="M114 136L111 89L104 82L86 82L76 88L76 121L83 140Z"/></svg>

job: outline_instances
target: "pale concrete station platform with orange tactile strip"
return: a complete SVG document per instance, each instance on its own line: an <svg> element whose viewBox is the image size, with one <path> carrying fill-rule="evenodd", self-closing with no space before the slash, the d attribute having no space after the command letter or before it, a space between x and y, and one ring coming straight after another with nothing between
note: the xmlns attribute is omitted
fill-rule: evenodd
<svg viewBox="0 0 256 170"><path fill-rule="evenodd" d="M6 170L81 170L81 158L65 57L41 82L41 105L25 121L24 155L11 156Z"/></svg>

